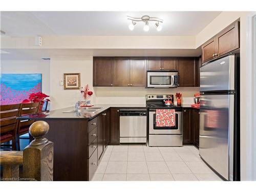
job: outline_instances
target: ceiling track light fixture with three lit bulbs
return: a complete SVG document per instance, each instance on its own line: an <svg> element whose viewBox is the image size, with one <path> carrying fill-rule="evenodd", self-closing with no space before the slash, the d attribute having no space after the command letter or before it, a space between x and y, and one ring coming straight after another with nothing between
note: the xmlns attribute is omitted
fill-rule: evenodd
<svg viewBox="0 0 256 192"><path fill-rule="evenodd" d="M162 25L160 25L160 23L163 23L163 20L160 18L157 18L157 17L150 17L148 15L143 15L141 18L127 16L127 19L132 21L132 23L129 25L129 29L131 31L134 30L134 26L136 25L136 22L144 22L144 24L145 24L143 27L144 31L150 30L150 26L149 26L150 22L157 22L157 23L155 23L157 31L162 30Z"/></svg>

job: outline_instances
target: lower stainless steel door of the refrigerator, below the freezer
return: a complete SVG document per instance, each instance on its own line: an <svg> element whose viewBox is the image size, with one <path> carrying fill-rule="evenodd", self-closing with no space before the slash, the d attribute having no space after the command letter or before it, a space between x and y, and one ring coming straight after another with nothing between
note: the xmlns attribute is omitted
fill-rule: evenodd
<svg viewBox="0 0 256 192"><path fill-rule="evenodd" d="M226 180L233 180L234 95L201 95L199 154Z"/></svg>

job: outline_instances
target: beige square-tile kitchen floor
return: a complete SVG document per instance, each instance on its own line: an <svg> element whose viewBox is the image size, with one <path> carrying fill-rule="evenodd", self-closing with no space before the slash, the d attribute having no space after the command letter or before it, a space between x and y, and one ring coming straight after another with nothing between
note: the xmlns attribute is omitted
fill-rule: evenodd
<svg viewBox="0 0 256 192"><path fill-rule="evenodd" d="M193 145L109 145L93 181L221 181Z"/></svg>

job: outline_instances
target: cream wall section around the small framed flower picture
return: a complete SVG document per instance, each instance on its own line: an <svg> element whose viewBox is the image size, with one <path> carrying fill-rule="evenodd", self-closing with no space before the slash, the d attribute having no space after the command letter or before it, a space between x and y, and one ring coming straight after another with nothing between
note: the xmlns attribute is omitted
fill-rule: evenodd
<svg viewBox="0 0 256 192"><path fill-rule="evenodd" d="M93 90L93 65L92 57L54 57L51 58L50 66L50 97L51 110L74 106L78 100L82 99L79 90L64 90L60 85L64 73L80 73L81 87L89 84ZM92 102L95 100L95 94L91 96Z"/></svg>

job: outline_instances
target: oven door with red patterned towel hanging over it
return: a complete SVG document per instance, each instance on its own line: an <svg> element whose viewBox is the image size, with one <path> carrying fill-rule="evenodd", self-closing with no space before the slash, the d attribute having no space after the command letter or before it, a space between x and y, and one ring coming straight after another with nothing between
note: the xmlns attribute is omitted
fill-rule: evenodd
<svg viewBox="0 0 256 192"><path fill-rule="evenodd" d="M183 122L182 112L175 112L176 123L171 127L157 127L156 126L156 111L150 111L149 132L150 134L182 134Z"/></svg>

